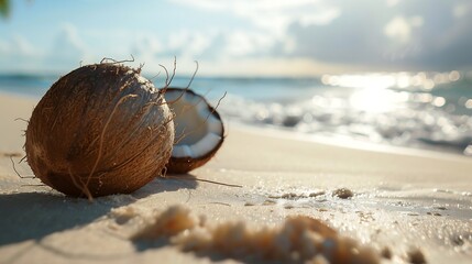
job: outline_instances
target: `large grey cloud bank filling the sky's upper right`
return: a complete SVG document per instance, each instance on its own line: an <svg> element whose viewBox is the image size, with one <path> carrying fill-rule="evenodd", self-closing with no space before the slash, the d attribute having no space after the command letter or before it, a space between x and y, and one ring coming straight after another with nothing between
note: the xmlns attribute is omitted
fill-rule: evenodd
<svg viewBox="0 0 472 264"><path fill-rule="evenodd" d="M472 31L465 1L332 1L340 15L329 24L293 22L287 29L290 52L326 63L372 69L452 69L472 66ZM466 4L469 7L469 4ZM455 10L455 11L454 11ZM465 11L461 11L465 12ZM282 42L274 54L284 51Z"/></svg>

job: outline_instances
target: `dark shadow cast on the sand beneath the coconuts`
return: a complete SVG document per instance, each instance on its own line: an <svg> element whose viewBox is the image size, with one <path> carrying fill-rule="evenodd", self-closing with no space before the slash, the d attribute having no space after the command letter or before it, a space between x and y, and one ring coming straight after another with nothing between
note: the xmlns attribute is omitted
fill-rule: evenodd
<svg viewBox="0 0 472 264"><path fill-rule="evenodd" d="M191 179L194 176L185 177ZM86 226L112 208L133 204L136 199L197 186L196 180L156 178L131 195L99 197L91 202L58 193L0 194L0 246L25 240L40 241L48 234Z"/></svg>

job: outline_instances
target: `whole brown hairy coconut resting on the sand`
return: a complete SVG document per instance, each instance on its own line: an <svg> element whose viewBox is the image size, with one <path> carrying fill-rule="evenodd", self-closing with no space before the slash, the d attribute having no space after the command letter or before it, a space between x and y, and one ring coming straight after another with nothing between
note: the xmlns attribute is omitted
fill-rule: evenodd
<svg viewBox="0 0 472 264"><path fill-rule="evenodd" d="M151 81L118 64L59 78L35 107L25 151L33 173L69 196L132 193L161 174L174 123Z"/></svg>

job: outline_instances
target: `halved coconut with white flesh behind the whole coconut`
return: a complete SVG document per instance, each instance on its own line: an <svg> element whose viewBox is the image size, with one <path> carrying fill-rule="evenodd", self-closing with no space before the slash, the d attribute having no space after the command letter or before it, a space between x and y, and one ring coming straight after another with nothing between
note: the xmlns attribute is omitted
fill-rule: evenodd
<svg viewBox="0 0 472 264"><path fill-rule="evenodd" d="M165 100L174 112L175 144L167 173L184 174L206 164L224 140L220 114L200 95L167 88Z"/></svg>

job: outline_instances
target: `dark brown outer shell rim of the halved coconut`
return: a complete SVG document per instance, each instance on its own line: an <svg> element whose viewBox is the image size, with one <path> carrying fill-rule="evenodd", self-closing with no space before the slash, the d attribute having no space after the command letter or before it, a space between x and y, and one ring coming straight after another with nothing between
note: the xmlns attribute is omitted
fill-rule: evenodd
<svg viewBox="0 0 472 264"><path fill-rule="evenodd" d="M205 154L202 156L198 156L198 157L191 157L191 156L175 157L175 156L171 156L168 164L166 165L167 173L186 174L186 173L188 173L195 168L198 168L198 167L205 165L207 162L209 162L215 156L215 154L218 152L218 150L221 147L221 145L224 142L224 125L223 125L222 119L221 119L220 114L218 113L218 111L213 107L211 107L202 96L197 95L195 91L189 90L189 89L175 88L175 87L167 88L166 92L168 92L168 91L175 91L175 92L182 92L182 94L188 92L193 96L197 96L197 97L201 98L201 101L199 103L207 105L209 112L211 112L211 114L213 114L213 117L221 122L221 140L210 152L208 152L207 154ZM169 102L169 108L171 108L171 110L173 110L172 102ZM178 112L174 111L174 114L178 114ZM185 114L185 112L184 112L184 114ZM175 119L178 119L178 117L176 117Z"/></svg>

